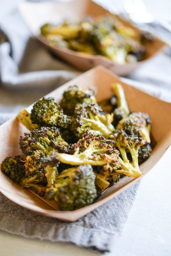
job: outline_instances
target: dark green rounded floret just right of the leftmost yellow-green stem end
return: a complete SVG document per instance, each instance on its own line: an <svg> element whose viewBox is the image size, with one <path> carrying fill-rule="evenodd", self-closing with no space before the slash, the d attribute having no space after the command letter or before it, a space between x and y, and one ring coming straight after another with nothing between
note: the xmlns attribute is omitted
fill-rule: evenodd
<svg viewBox="0 0 171 256"><path fill-rule="evenodd" d="M58 126L68 128L72 118L63 114L59 104L53 97L42 98L36 101L30 116L33 124L40 126Z"/></svg>

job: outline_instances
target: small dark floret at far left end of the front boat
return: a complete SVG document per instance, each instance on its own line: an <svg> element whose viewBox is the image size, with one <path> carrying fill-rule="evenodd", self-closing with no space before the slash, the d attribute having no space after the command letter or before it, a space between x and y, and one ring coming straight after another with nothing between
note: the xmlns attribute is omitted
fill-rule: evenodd
<svg viewBox="0 0 171 256"><path fill-rule="evenodd" d="M2 172L12 181L19 183L25 176L24 161L25 157L23 155L6 157L2 162Z"/></svg>

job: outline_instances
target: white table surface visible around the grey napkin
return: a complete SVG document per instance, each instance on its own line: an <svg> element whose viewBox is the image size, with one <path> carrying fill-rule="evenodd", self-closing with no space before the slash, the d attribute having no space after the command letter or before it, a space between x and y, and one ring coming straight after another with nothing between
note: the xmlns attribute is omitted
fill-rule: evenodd
<svg viewBox="0 0 171 256"><path fill-rule="evenodd" d="M21 0L0 0L0 16ZM170 19L171 1L145 0L155 17ZM165 4L163 4L163 2ZM155 8L154 8L155 5ZM108 256L171 255L171 147L141 180L122 235ZM23 238L0 231L0 256L87 256L97 255L66 243Z"/></svg>

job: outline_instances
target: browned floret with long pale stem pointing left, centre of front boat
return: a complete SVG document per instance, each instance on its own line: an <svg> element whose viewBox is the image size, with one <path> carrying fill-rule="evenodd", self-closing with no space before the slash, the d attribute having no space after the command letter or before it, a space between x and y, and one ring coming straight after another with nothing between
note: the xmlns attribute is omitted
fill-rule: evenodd
<svg viewBox="0 0 171 256"><path fill-rule="evenodd" d="M113 161L115 154L116 149L103 136L88 133L71 145L70 154L57 153L56 156L60 162L70 165L103 166Z"/></svg>

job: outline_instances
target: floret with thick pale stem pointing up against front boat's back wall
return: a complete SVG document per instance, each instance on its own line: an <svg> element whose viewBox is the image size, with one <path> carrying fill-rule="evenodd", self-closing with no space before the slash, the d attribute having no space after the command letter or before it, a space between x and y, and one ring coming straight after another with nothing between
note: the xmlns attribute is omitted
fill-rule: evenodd
<svg viewBox="0 0 171 256"><path fill-rule="evenodd" d="M122 86L119 83L112 83L112 89L117 98L117 108L113 111L113 124L115 126L122 118L127 117L130 111Z"/></svg>

